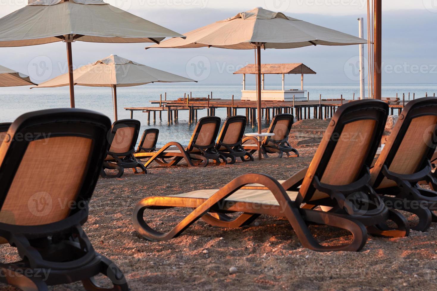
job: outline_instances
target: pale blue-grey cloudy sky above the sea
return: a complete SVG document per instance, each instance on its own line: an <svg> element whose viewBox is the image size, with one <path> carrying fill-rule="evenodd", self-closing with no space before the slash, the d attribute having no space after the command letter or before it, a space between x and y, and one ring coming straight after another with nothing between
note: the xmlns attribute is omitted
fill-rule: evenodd
<svg viewBox="0 0 437 291"><path fill-rule="evenodd" d="M318 25L358 35L357 17L367 14L367 0L106 0L121 9L184 34L198 27L234 16L253 7L284 14ZM0 0L0 17L24 7L27 0ZM383 1L383 82L436 83L437 0ZM23 20L25 21L25 20ZM364 28L367 24L364 24ZM365 35L367 33L365 32ZM147 43L73 44L73 62L85 65L111 54L166 70L201 83L240 83L232 72L253 63L253 51L219 48L149 49ZM0 65L31 76L35 82L66 72L66 49L62 42L21 48L0 48ZM367 56L367 52L365 53ZM264 63L303 62L317 75L308 83L356 83L358 46L305 47L262 52ZM194 67L208 66L208 74L197 75ZM38 65L50 66L40 75ZM194 65L193 65L194 64ZM271 82L281 78L271 76ZM290 76L295 82L297 77ZM249 80L250 82L250 80Z"/></svg>

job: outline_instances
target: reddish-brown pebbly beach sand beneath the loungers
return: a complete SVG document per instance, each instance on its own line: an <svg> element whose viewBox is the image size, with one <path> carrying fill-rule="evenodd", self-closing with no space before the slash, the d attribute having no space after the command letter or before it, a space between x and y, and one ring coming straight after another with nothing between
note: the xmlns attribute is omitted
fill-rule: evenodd
<svg viewBox="0 0 437 291"><path fill-rule="evenodd" d="M302 248L285 219L269 216L240 229L208 226L199 220L180 237L158 243L143 239L132 226L132 209L144 197L219 188L245 173L288 178L309 164L327 124L326 120L304 120L293 126L290 140L301 154L297 158L272 155L262 161L206 168L154 164L148 175L127 170L121 178L100 179L85 232L94 248L125 273L132 290L435 290L435 224L427 233L411 231L404 238L369 236L363 250L356 253ZM186 209L149 210L146 217L152 227L165 230L187 213ZM350 240L349 233L332 227L310 229L327 245ZM0 253L4 261L18 259L8 245ZM236 273L230 274L231 267L236 267ZM103 277L97 281L106 282ZM83 287L76 282L51 290Z"/></svg>

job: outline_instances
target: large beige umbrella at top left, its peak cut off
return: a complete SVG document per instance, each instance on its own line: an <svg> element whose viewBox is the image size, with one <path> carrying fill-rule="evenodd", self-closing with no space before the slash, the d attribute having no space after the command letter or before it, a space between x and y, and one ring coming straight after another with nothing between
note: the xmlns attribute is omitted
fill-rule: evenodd
<svg viewBox="0 0 437 291"><path fill-rule="evenodd" d="M101 0L29 0L27 6L0 18L0 47L66 42L71 107L72 42L159 43L166 37L183 35Z"/></svg>

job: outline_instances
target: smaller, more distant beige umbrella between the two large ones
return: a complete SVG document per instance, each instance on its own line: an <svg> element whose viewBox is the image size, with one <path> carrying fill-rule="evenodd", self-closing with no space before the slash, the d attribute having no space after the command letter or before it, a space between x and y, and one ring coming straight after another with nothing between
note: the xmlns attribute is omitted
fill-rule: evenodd
<svg viewBox="0 0 437 291"><path fill-rule="evenodd" d="M118 55L110 55L84 65L73 72L74 85L112 87L114 120L117 116L117 87L130 87L154 82L197 82L156 68L132 62ZM32 88L62 87L69 85L69 74L63 74Z"/></svg>

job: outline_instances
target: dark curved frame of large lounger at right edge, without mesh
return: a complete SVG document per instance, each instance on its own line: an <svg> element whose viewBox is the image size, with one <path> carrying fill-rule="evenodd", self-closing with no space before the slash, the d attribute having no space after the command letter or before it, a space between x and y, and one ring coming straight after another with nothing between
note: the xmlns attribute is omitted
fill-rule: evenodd
<svg viewBox="0 0 437 291"><path fill-rule="evenodd" d="M399 120L396 122L395 127L387 140L378 160L375 163L375 167L371 169L372 186L378 194L382 195L382 198L386 202L395 206L395 209L404 210L416 214L419 218L419 223L416 226L411 227L414 230L426 231L431 222L437 222L437 216L431 212L431 210L437 210L437 179L435 174L431 172L430 160L436 149L437 141L432 140L432 144L428 144L428 150L423 155L420 161L419 169L410 175L401 175L389 171L390 165L398 152L402 140L410 126L411 121L420 116L437 116L437 98L426 97L409 101L409 103L402 110ZM434 128L434 138L437 136L437 125ZM409 157L405 157L408 159ZM396 182L397 186L389 188L378 189L378 186L384 178L388 178ZM420 181L425 181L434 189L430 191L419 186ZM395 197L389 197L387 195L394 195ZM415 202L427 202L426 207L418 208L413 207L412 203Z"/></svg>

